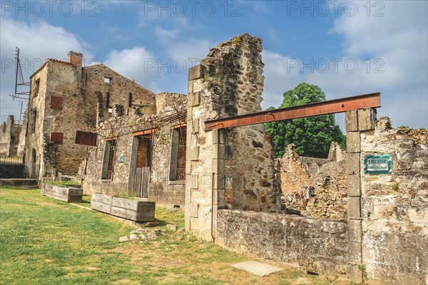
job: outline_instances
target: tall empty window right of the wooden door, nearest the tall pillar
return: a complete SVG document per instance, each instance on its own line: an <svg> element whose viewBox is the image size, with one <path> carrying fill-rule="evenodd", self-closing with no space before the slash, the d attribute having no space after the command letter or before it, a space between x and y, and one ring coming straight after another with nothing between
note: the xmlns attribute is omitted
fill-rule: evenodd
<svg viewBox="0 0 428 285"><path fill-rule="evenodd" d="M169 180L185 180L185 132L186 128L173 128L171 133Z"/></svg>

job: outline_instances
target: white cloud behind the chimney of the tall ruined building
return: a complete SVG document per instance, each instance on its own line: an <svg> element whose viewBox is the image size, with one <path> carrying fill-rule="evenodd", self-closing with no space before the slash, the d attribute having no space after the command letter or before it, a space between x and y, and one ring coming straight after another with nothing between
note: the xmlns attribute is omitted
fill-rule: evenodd
<svg viewBox="0 0 428 285"><path fill-rule="evenodd" d="M47 58L66 60L68 51L83 53L86 63L93 58L93 54L89 51L90 47L78 36L60 26L47 24L45 21L26 23L2 17L0 34L1 115L19 114L19 110L6 109L7 106L17 105L17 102L14 103L9 97L9 94L14 92L16 46L20 48L20 60L25 81L29 81L29 76Z"/></svg>

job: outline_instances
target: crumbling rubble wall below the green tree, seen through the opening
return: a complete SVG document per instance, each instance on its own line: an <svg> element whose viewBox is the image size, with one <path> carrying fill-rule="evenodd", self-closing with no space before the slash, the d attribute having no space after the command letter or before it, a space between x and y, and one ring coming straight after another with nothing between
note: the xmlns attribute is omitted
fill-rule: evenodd
<svg viewBox="0 0 428 285"><path fill-rule="evenodd" d="M346 154L332 142L327 159L300 157L288 145L278 160L282 202L306 217L346 221Z"/></svg>

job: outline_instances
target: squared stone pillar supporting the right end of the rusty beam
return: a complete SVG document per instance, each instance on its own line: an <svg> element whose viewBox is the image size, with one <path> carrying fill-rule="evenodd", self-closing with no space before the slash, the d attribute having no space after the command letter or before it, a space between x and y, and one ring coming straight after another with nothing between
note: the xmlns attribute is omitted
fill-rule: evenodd
<svg viewBox="0 0 428 285"><path fill-rule="evenodd" d="M361 138L360 132L374 130L376 109L350 110L346 113L347 132L347 212L348 212L348 274L351 281L363 281L362 219L361 219Z"/></svg>

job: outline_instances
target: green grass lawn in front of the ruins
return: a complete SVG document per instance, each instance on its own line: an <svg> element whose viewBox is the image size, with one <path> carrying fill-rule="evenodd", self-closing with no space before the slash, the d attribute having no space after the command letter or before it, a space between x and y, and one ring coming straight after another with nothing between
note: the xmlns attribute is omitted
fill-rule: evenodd
<svg viewBox="0 0 428 285"><path fill-rule="evenodd" d="M184 212L156 207L156 219L183 227ZM288 267L255 276L230 266L251 258L183 232L118 242L133 230L39 190L0 188L0 284L347 284Z"/></svg>

